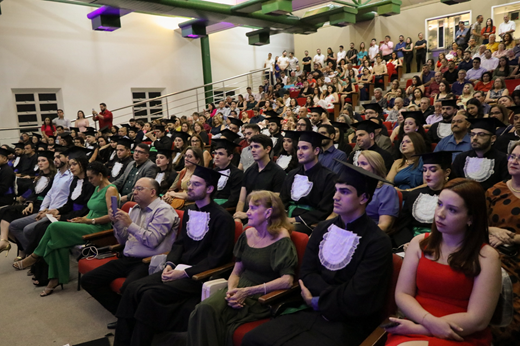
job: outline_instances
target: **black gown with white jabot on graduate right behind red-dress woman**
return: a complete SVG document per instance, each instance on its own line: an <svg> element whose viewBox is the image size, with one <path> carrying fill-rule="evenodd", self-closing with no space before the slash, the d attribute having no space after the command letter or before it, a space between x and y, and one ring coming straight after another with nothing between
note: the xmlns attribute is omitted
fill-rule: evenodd
<svg viewBox="0 0 520 346"><path fill-rule="evenodd" d="M437 205L436 199L427 198L426 195L439 196L439 193L440 191L433 191L428 186L403 193L403 207L395 222L397 231L392 235L395 246L410 242L416 227L431 229L433 219L432 222L425 221L427 221L427 217L433 217ZM421 196L420 199L419 196ZM425 211L430 211L431 214L425 213Z"/></svg>

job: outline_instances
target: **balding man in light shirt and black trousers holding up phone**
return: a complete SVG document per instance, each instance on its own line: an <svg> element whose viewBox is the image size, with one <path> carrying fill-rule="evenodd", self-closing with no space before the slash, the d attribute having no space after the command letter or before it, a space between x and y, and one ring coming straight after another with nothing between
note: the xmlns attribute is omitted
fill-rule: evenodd
<svg viewBox="0 0 520 346"><path fill-rule="evenodd" d="M148 264L142 259L169 251L177 235L180 219L175 210L158 196L159 183L153 178L141 178L133 187L137 204L125 213L116 214L109 208L114 236L124 244L123 256L98 267L81 278L81 286L113 315L121 295L110 289L117 278L126 278L121 292L131 282L148 276ZM109 323L109 329L116 327Z"/></svg>

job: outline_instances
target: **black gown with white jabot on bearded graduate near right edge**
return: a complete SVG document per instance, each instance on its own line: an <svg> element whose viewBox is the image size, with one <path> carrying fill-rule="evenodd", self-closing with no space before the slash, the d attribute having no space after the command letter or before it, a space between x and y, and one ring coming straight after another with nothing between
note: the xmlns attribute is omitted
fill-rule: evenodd
<svg viewBox="0 0 520 346"><path fill-rule="evenodd" d="M507 155L494 147L479 159L475 150L458 154L453 161L451 179L468 178L482 185L484 191L498 182L511 178L507 169Z"/></svg>

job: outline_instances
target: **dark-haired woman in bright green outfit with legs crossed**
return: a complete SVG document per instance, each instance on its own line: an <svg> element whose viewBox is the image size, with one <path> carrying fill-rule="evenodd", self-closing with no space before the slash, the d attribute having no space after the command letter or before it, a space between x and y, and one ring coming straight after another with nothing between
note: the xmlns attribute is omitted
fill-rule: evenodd
<svg viewBox="0 0 520 346"><path fill-rule="evenodd" d="M114 184L108 181L108 170L100 162L92 162L87 167L87 177L96 187L88 201L90 212L85 217L76 217L69 222L54 222L47 228L45 235L31 256L13 264L15 269L25 269L41 257L49 265L49 284L40 294L41 297L52 294L59 285L69 282L69 248L83 244L83 236L112 228L108 217L108 208L112 196L117 196Z"/></svg>

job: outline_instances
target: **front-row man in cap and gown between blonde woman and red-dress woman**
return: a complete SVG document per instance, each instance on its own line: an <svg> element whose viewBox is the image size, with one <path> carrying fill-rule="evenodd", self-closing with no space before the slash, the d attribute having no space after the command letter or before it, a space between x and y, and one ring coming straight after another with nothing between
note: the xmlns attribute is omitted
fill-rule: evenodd
<svg viewBox="0 0 520 346"><path fill-rule="evenodd" d="M300 269L303 311L251 332L251 345L359 345L381 321L392 273L390 238L365 213L379 176L342 162L334 212L307 244Z"/></svg>

